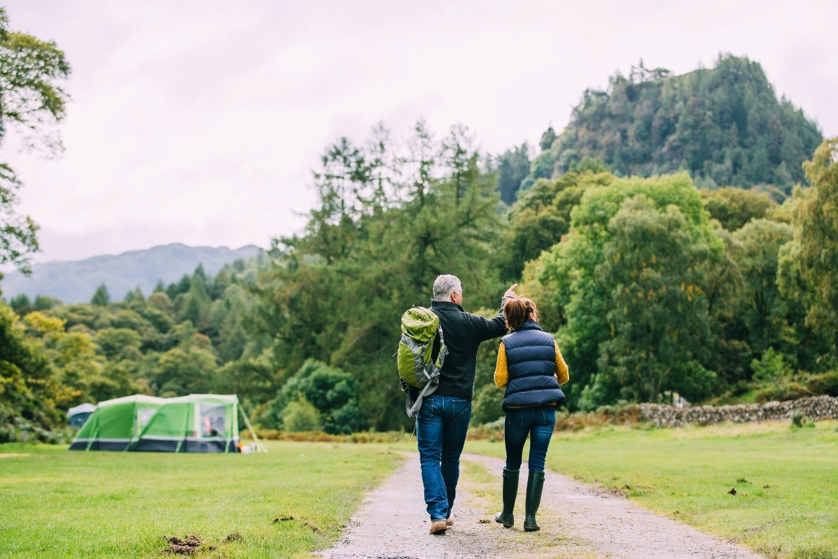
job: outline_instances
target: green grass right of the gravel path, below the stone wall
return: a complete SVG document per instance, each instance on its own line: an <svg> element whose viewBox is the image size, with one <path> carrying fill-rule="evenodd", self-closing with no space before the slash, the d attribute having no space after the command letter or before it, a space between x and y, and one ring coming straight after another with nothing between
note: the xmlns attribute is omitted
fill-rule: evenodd
<svg viewBox="0 0 838 559"><path fill-rule="evenodd" d="M547 465L768 557L838 559L838 422L556 433Z"/></svg>

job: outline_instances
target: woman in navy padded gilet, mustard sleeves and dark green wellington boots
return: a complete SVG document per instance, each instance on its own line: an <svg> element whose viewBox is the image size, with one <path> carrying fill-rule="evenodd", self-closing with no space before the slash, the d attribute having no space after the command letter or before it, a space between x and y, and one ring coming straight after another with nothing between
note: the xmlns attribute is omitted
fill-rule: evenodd
<svg viewBox="0 0 838 559"><path fill-rule="evenodd" d="M566 383L569 376L556 340L538 325L538 310L531 299L510 299L504 304L504 314L512 333L501 339L494 369L494 383L506 387L504 510L494 516L494 521L504 528L515 523L512 510L518 493L521 453L529 435L530 477L526 484L524 530L532 532L541 529L535 513L544 488L544 463L556 427L556 407L565 399L559 385Z"/></svg>

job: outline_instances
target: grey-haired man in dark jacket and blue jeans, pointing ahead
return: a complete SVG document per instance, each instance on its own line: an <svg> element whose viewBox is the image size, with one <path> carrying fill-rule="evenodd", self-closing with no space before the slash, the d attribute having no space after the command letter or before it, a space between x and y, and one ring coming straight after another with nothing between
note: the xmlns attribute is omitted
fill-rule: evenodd
<svg viewBox="0 0 838 559"><path fill-rule="evenodd" d="M506 298L515 297L517 285L504 293L498 316L489 319L463 310L463 286L456 276L439 276L433 282L431 309L439 317L448 355L437 390L425 396L416 417L416 441L432 534L444 534L453 524L451 510L460 477L460 454L471 420L477 349L481 342L506 334L504 303Z"/></svg>

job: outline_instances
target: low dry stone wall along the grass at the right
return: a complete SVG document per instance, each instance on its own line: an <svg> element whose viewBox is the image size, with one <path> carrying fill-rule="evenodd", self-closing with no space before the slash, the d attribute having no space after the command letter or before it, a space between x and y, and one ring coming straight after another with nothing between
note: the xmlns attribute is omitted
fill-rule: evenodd
<svg viewBox="0 0 838 559"><path fill-rule="evenodd" d="M789 419L794 411L799 411L813 421L838 419L838 398L832 396L812 396L799 400L737 406L675 407L640 404L639 408L639 421L651 422L659 427L782 421Z"/></svg>

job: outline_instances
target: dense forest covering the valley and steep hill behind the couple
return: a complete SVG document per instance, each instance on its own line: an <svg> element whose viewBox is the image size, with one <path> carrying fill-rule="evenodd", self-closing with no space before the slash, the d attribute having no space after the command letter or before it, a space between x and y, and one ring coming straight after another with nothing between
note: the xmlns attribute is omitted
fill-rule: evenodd
<svg viewBox="0 0 838 559"><path fill-rule="evenodd" d="M380 126L339 138L313 173L305 230L215 276L199 267L118 300L101 287L90 303L0 302L0 441L51 440L68 407L134 392L235 393L262 428L406 428L399 317L429 303L441 273L486 316L512 282L535 299L570 366L571 410L838 395L838 138L821 142L747 60L651 74L588 92L538 155L522 144L489 157L464 127L434 137L424 122L407 137ZM744 89L725 97L732 75ZM707 151L691 153L701 141L673 140L686 125L661 99L728 107L731 126L705 122L737 135L710 142L708 128ZM638 100L647 112L629 111ZM659 110L671 130L654 124ZM762 127L773 116L779 139ZM620 148L598 152L608 134ZM730 172L716 173L728 156ZM25 251L3 250L25 266ZM474 422L502 415L496 350L478 355Z"/></svg>

